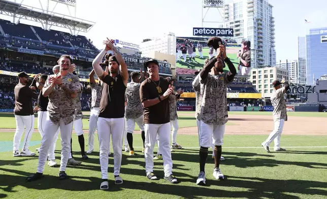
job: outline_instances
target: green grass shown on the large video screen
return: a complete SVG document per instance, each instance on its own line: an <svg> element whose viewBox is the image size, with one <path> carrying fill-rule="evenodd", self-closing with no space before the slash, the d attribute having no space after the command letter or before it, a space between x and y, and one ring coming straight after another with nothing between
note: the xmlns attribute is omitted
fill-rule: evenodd
<svg viewBox="0 0 327 199"><path fill-rule="evenodd" d="M231 61L234 63L236 70L237 69L237 65L239 64L240 60L237 59L237 54L235 53L228 53L228 48L237 48L240 49L239 47L227 47L227 56L228 58L231 59ZM176 68L184 68L184 69L202 69L203 68L203 64L204 64L204 60L206 58L209 58L209 48L203 48L203 58L200 58L199 52L197 51L197 56L195 56L195 61L196 62L184 62L184 59L179 59L179 61L176 62ZM188 59L188 55L186 55L187 60ZM226 68L224 69L224 72L228 71L228 67L226 66Z"/></svg>

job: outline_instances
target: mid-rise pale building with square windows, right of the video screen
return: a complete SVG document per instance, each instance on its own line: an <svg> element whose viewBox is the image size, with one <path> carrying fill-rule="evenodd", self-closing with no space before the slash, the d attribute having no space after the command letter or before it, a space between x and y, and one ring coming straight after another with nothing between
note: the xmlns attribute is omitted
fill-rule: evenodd
<svg viewBox="0 0 327 199"><path fill-rule="evenodd" d="M288 81L288 71L278 67L256 67L251 69L250 81L261 96L270 98L273 93L273 81Z"/></svg>

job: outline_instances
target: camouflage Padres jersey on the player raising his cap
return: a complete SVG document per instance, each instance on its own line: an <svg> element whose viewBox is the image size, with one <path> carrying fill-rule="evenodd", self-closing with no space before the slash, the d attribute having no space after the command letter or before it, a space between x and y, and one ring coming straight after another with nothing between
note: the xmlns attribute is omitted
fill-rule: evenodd
<svg viewBox="0 0 327 199"><path fill-rule="evenodd" d="M201 79L200 120L207 124L221 125L228 121L226 88L230 83L227 73L219 75L208 74Z"/></svg>

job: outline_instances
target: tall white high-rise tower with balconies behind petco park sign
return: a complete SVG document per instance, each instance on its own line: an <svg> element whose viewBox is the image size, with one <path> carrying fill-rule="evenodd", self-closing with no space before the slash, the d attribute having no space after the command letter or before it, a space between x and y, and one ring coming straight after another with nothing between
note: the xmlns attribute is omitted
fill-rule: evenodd
<svg viewBox="0 0 327 199"><path fill-rule="evenodd" d="M276 65L275 20L267 0L225 0L224 25L240 43L251 41L251 65Z"/></svg>

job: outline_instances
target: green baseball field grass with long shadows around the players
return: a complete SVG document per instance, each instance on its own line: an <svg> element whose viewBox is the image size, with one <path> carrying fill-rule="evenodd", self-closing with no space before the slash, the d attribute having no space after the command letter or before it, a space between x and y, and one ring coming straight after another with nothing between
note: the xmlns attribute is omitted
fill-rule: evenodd
<svg viewBox="0 0 327 199"><path fill-rule="evenodd" d="M211 149L206 164L207 185L195 184L199 174L199 140L196 134L184 133L183 126L196 125L190 115L194 112L179 112L181 133L177 142L183 149L172 152L173 173L179 184L164 180L163 161L154 161L154 171L160 178L150 181L145 177L145 162L139 131L134 134L136 156L122 152L122 185L114 184L113 156L109 157L109 190L100 190L101 172L99 143L95 139L95 152L78 167L69 166L70 179L59 181L58 168L45 166L45 177L36 182L25 182L28 175L36 172L38 154L33 157L13 157L12 129L0 133L0 198L325 198L327 195L327 132L323 135L282 135L281 146L285 152L267 153L260 143L265 135L225 133L222 155L226 158L220 168L225 180L212 176L214 161ZM272 112L229 112L235 114L262 114ZM85 113L87 115L87 113ZM299 117L326 117L320 113L289 113L290 120ZM249 115L250 116L250 115ZM293 117L297 116L297 117ZM260 116L259 116L260 117ZM11 119L10 119L11 118ZM0 128L13 123L14 118L0 115ZM3 119L7 119L3 122ZM13 120L12 120L13 119ZM321 118L322 119L322 118ZM86 120L87 121L87 120ZM235 125L236 120L232 121ZM260 125L258 121L257 125ZM287 125L287 124L285 124ZM299 123L299 125L301 125ZM323 124L322 124L323 125ZM231 126L232 127L232 126ZM233 126L234 128L235 126ZM240 126L240 128L242 128ZM323 129L323 128L322 128ZM326 130L327 131L327 130ZM95 135L96 136L96 135ZM87 144L87 134L84 135ZM97 137L97 136L96 136ZM40 146L38 132L32 135L30 150ZM56 145L56 161L60 162L60 140ZM272 145L273 146L273 143ZM73 154L81 160L76 134L73 134ZM87 147L86 147L87 149ZM155 148L156 151L156 148ZM111 149L112 152L112 149Z"/></svg>

